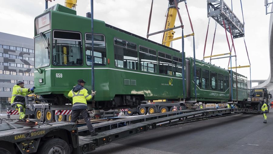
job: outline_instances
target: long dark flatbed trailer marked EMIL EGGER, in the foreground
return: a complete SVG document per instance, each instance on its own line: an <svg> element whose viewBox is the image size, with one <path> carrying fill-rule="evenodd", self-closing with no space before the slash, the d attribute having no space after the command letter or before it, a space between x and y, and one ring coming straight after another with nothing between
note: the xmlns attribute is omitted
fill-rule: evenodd
<svg viewBox="0 0 273 154"><path fill-rule="evenodd" d="M254 113L251 109L197 109L181 110L166 113L142 115L137 117L126 117L114 119L98 124L93 127L99 135L91 137L86 126L76 127L75 123L37 122L35 127L30 122L20 125L16 121L7 121L0 124L0 153L80 153L87 154L99 146L140 134L144 131L168 126L185 121L192 121L205 117L228 115L234 112ZM36 119L29 121L37 121ZM25 126L22 126L21 124ZM36 123L34 123L36 124ZM39 126L38 126L39 125Z"/></svg>

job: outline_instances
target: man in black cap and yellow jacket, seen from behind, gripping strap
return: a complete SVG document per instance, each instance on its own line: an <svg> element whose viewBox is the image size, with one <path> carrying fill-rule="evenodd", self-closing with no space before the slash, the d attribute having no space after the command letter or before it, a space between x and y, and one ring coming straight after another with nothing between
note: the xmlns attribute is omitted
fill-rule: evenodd
<svg viewBox="0 0 273 154"><path fill-rule="evenodd" d="M78 80L78 85L75 86L72 90L69 91L68 97L72 98L72 113L71 113L71 121L70 122L76 122L79 118L79 114L82 114L83 119L86 122L87 128L91 134L91 136L98 135L97 132L95 132L95 129L92 126L92 123L89 119L89 113L87 110L87 102L86 100L90 100L96 95L96 91L93 92L91 90L91 94L89 95L87 93L87 89L84 88L84 84L86 82L83 79Z"/></svg>

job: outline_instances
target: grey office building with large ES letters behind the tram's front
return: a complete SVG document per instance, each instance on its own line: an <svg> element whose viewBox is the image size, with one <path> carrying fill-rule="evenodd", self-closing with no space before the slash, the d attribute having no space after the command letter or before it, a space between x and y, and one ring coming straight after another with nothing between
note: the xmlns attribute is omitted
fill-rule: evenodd
<svg viewBox="0 0 273 154"><path fill-rule="evenodd" d="M17 81L34 86L34 39L0 32L0 105L10 103Z"/></svg>

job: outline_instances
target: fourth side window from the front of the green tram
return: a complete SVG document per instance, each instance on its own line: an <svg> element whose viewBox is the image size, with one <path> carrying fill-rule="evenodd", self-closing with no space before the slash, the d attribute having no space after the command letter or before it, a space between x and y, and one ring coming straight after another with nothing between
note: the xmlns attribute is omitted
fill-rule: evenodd
<svg viewBox="0 0 273 154"><path fill-rule="evenodd" d="M157 72L157 51L139 46L140 71Z"/></svg>

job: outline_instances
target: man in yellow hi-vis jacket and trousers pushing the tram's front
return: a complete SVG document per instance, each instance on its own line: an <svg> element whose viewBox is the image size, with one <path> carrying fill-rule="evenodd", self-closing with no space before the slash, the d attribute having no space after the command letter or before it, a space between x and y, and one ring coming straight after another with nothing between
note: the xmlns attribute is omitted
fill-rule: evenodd
<svg viewBox="0 0 273 154"><path fill-rule="evenodd" d="M33 93L35 87L31 89L24 88L25 83L18 81L12 88L11 106L15 107L19 111L19 119L26 119L28 115L25 115L25 96Z"/></svg>

